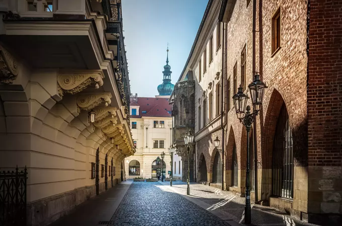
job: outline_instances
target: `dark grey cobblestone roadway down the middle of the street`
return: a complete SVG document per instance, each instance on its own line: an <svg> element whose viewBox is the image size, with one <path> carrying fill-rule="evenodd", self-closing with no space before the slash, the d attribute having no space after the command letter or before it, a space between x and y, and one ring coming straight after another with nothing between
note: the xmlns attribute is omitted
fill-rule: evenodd
<svg viewBox="0 0 342 226"><path fill-rule="evenodd" d="M111 218L111 226L230 226L159 182L133 182Z"/></svg>

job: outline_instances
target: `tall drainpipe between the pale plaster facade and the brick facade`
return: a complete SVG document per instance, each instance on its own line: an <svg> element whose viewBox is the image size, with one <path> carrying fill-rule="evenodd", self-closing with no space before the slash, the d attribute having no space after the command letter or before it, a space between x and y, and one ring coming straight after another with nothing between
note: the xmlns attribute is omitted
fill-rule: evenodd
<svg viewBox="0 0 342 226"><path fill-rule="evenodd" d="M221 25L221 24L220 24ZM222 70L221 70L221 129L222 129L222 190L224 190L224 126L223 126L223 86L224 86L224 38L225 38L225 23L222 22Z"/></svg>

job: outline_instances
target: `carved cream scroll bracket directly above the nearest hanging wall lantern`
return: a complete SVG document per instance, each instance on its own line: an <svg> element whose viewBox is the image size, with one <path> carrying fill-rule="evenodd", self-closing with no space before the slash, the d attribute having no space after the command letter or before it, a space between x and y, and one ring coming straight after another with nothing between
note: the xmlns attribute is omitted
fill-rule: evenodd
<svg viewBox="0 0 342 226"><path fill-rule="evenodd" d="M103 102L105 103L105 106L107 107L108 104L111 103L110 98L111 98L110 93L88 94L88 95L80 95L77 98L76 102L80 109L89 111Z"/></svg>

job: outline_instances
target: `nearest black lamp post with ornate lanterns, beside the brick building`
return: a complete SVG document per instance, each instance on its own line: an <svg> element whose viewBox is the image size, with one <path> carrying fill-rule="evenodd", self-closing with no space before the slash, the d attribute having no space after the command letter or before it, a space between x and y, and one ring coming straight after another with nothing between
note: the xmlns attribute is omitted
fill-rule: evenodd
<svg viewBox="0 0 342 226"><path fill-rule="evenodd" d="M266 84L261 82L259 79L259 74L255 73L254 81L248 85L251 97L252 104L255 107L253 112L250 112L251 107L247 104L247 99L249 97L244 94L242 91L242 87L240 85L237 94L233 96L235 112L240 120L240 123L246 127L247 131L247 167L246 167L246 205L245 205L245 224L251 223L251 175L250 175L250 156L249 156L249 132L251 131L252 123L255 119L255 116L258 115L259 109L257 107L262 104L262 100L264 97L265 88L267 88ZM245 110L247 112L245 113ZM256 138L254 138L256 139ZM258 185L255 185L258 186ZM257 198L257 197L256 197Z"/></svg>

